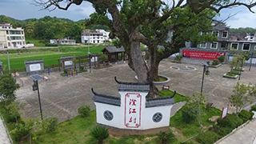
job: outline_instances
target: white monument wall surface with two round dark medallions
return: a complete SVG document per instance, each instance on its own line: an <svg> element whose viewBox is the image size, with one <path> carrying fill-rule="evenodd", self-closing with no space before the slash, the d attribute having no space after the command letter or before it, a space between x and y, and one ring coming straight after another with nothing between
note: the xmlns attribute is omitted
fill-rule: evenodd
<svg viewBox="0 0 256 144"><path fill-rule="evenodd" d="M107 126L118 127L120 129L133 129L133 130L148 130L148 129L158 128L163 126L169 126L170 110L172 106L157 106L157 107L146 108L147 93L126 91L126 92L119 92L119 94L121 94L121 106L112 106L104 103L94 102L96 105L98 123L101 123ZM138 113L136 113L135 115L129 114L128 109L130 109L130 107L127 106L127 104L129 104L130 99L129 98L126 99L126 96L125 96L126 94L130 94L129 98L134 98L132 94L134 95L140 94L142 96L141 104L139 104L139 98L138 98L136 101L136 106L133 106L133 108L136 108L136 112L139 113L139 110L141 110L140 118L138 115L136 115ZM110 112L112 112L112 114L114 115L114 118L111 121L106 120L106 118L104 118L103 116L106 110L110 110ZM153 116L156 113L162 114L162 120L160 122L153 121ZM135 123L134 119L133 119L134 123L128 122L130 117L136 118L136 123L140 123L140 126L130 127ZM126 126L126 123L129 123L129 125Z"/></svg>

